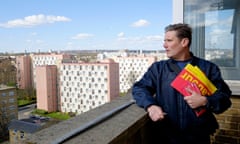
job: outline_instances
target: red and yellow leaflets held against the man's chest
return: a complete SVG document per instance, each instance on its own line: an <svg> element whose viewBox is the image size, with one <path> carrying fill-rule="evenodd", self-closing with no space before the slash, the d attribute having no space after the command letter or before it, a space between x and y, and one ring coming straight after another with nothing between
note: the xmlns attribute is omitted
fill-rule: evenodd
<svg viewBox="0 0 240 144"><path fill-rule="evenodd" d="M211 96L217 90L201 69L198 66L193 66L191 64L187 64L184 67L184 69L173 80L171 86L183 96L191 95L186 88L190 88L202 96ZM205 111L206 109L204 107L195 109L197 116L202 115Z"/></svg>

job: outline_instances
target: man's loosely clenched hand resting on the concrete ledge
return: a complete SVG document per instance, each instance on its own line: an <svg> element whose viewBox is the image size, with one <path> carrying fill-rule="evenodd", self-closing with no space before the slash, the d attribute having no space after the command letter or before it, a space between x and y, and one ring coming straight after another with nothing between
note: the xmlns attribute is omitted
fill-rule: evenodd
<svg viewBox="0 0 240 144"><path fill-rule="evenodd" d="M162 108L157 105L151 105L147 108L148 115L152 121L158 121L164 119L165 112L162 111Z"/></svg>

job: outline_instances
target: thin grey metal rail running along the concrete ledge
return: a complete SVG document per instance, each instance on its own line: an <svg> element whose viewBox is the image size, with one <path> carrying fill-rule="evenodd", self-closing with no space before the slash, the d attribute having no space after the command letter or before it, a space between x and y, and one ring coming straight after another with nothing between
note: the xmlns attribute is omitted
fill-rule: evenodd
<svg viewBox="0 0 240 144"><path fill-rule="evenodd" d="M116 114L117 112L129 107L130 105L134 104L135 101L134 100L130 100L129 102L111 110L111 111L108 111L102 115L100 115L99 117L97 117L96 119L86 123L85 125L83 126L80 126L76 129L73 129L72 131L70 131L69 133L66 133L65 135L63 135L62 137L54 140L51 142L51 144L60 144L60 143L63 143L65 141L67 141L68 139L70 139L71 137L77 135L77 134L80 134L84 131L86 131L87 129L97 125L98 123L104 121L105 119L111 117L112 115Z"/></svg>

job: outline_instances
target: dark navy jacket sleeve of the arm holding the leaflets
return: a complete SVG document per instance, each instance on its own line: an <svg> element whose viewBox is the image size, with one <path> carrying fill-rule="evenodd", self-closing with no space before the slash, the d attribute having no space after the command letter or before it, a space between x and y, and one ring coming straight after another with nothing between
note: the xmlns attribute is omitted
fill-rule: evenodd
<svg viewBox="0 0 240 144"><path fill-rule="evenodd" d="M220 114L231 106L232 103L230 100L230 96L232 92L229 86L222 79L218 66L213 66L213 69L210 73L210 80L217 87L217 91L213 95L207 96L207 109L211 110L216 114Z"/></svg>

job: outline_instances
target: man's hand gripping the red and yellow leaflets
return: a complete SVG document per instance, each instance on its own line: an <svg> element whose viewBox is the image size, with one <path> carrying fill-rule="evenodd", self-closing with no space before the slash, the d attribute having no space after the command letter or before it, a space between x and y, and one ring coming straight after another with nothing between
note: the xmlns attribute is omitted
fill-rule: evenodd
<svg viewBox="0 0 240 144"><path fill-rule="evenodd" d="M192 109L198 108L200 106L205 106L207 104L207 98L205 96L202 96L201 94L191 90L190 88L186 88L186 90L191 95L185 96L184 100Z"/></svg>

